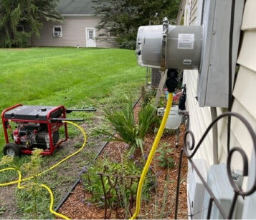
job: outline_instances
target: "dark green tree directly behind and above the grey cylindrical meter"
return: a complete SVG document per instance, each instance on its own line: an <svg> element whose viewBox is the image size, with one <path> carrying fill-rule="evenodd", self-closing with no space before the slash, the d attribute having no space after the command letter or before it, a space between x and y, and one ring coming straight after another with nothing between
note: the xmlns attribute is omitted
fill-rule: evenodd
<svg viewBox="0 0 256 220"><path fill-rule="evenodd" d="M100 14L98 30L115 36L120 48L135 49L139 26L161 21L167 16L176 19L180 0L93 0L95 14Z"/></svg>

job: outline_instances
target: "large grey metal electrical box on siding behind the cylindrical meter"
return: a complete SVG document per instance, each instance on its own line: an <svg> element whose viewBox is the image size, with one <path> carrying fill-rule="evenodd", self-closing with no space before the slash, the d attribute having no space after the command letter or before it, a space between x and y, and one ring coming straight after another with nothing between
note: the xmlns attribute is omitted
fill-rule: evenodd
<svg viewBox="0 0 256 220"><path fill-rule="evenodd" d="M232 1L204 1L202 59L197 84L199 106L228 106L229 31ZM232 84L240 42L243 9L244 0L235 1Z"/></svg>

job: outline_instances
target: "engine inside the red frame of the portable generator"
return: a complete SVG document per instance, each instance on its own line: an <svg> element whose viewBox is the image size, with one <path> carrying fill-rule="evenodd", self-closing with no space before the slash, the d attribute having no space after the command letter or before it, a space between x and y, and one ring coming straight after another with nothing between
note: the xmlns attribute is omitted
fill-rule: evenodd
<svg viewBox="0 0 256 220"><path fill-rule="evenodd" d="M21 144L25 148L39 146L49 149L49 133L46 124L18 124L12 132L12 137L16 144ZM57 144L60 139L59 131L52 133L53 144Z"/></svg>

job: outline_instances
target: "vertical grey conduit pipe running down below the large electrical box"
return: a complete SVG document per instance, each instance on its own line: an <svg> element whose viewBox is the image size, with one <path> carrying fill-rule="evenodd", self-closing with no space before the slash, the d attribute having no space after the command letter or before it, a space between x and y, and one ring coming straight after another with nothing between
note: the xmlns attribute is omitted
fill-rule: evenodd
<svg viewBox="0 0 256 220"><path fill-rule="evenodd" d="M212 121L217 118L217 108L211 107ZM219 149L218 149L218 124L212 127L212 152L214 164L219 164Z"/></svg>

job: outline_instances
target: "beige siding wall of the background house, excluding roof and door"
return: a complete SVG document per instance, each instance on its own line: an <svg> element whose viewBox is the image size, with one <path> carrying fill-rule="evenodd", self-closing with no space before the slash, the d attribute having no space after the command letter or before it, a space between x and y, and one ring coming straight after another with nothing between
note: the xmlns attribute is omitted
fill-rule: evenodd
<svg viewBox="0 0 256 220"><path fill-rule="evenodd" d="M35 46L77 46L86 47L86 28L95 28L100 19L96 16L65 16L63 23L46 21L40 30L39 39L34 39ZM62 26L62 37L53 36L53 26ZM100 32L96 30L96 37ZM113 38L96 41L96 47L113 47Z"/></svg>

